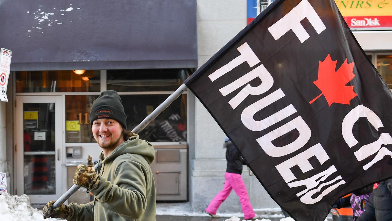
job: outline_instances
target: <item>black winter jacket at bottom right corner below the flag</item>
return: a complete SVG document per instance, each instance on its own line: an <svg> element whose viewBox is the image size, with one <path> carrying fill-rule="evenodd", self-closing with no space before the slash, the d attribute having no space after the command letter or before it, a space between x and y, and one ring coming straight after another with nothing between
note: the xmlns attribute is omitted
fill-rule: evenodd
<svg viewBox="0 0 392 221"><path fill-rule="evenodd" d="M373 190L365 212L358 221L390 221L392 220L391 179L380 182Z"/></svg>

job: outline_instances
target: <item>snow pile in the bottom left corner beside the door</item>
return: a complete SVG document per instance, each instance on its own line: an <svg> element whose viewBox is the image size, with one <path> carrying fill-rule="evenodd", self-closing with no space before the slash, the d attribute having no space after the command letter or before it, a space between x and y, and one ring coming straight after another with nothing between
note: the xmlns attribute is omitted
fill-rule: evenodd
<svg viewBox="0 0 392 221"><path fill-rule="evenodd" d="M0 195L1 220L4 221L44 221L42 211L30 206L27 195L17 196L4 193ZM56 221L60 219L48 218L45 221ZM64 220L64 219L63 219Z"/></svg>

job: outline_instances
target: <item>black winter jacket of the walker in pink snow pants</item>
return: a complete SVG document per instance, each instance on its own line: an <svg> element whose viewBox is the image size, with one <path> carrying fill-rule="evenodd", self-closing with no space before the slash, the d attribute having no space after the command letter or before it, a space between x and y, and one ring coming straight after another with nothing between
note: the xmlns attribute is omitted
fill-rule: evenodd
<svg viewBox="0 0 392 221"><path fill-rule="evenodd" d="M246 165L247 163L240 155L240 151L232 144L229 140L225 142L224 146L226 147L226 160L227 160L227 173L242 173L242 165Z"/></svg>

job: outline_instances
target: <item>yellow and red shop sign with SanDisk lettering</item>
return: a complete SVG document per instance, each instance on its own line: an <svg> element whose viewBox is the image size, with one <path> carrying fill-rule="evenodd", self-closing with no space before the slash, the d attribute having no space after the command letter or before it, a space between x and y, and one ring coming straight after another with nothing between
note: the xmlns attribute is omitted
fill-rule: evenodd
<svg viewBox="0 0 392 221"><path fill-rule="evenodd" d="M388 0L345 0L335 3L351 29L392 29L392 2Z"/></svg>

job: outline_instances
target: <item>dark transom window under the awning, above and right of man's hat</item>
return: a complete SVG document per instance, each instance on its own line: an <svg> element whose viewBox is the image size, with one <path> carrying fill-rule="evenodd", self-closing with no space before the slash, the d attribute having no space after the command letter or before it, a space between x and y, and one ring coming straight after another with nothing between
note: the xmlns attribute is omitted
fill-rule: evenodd
<svg viewBox="0 0 392 221"><path fill-rule="evenodd" d="M189 75L188 69L107 70L107 89L119 92L175 91Z"/></svg>

